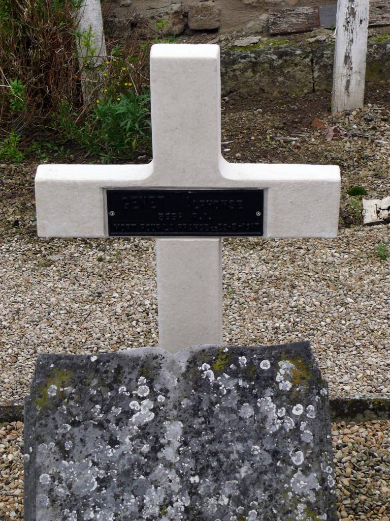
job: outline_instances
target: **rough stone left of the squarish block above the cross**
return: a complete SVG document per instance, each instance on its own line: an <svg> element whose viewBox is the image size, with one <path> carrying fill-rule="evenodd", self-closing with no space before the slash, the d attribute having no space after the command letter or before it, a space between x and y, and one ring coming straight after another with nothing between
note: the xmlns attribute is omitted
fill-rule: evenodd
<svg viewBox="0 0 390 521"><path fill-rule="evenodd" d="M162 36L181 34L186 27L186 21L181 2L174 2L163 7L145 9L142 18L148 21L151 29L156 29Z"/></svg>

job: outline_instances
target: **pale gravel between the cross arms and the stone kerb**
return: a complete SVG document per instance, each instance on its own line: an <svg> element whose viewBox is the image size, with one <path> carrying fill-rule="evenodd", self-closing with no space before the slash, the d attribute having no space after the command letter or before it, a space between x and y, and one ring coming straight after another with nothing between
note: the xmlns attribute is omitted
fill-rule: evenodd
<svg viewBox="0 0 390 521"><path fill-rule="evenodd" d="M224 341L309 339L332 395L390 392L389 226L335 240L226 239ZM154 241L21 235L0 244L0 399L21 402L39 353L158 344Z"/></svg>

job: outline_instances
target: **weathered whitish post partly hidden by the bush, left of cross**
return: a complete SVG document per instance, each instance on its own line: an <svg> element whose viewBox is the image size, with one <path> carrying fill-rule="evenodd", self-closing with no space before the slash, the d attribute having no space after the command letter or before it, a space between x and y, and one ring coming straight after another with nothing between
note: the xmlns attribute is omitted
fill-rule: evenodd
<svg viewBox="0 0 390 521"><path fill-rule="evenodd" d="M94 101L93 98L98 94L97 86L102 78L98 66L103 63L107 54L100 0L83 0L76 20L76 47L86 104Z"/></svg>

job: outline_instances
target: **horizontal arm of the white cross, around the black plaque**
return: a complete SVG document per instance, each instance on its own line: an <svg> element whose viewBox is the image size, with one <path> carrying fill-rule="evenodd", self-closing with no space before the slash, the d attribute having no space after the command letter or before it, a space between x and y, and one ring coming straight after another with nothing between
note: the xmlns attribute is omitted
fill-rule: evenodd
<svg viewBox="0 0 390 521"><path fill-rule="evenodd" d="M35 178L40 237L108 237L106 189L264 190L265 237L335 237L340 170L336 166L232 164L201 185L156 182L148 165L41 165Z"/></svg>

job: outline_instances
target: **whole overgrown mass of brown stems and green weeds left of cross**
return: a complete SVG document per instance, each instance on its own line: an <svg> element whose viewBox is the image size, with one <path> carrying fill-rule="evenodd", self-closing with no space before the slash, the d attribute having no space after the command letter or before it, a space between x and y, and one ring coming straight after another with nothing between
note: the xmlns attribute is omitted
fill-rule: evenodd
<svg viewBox="0 0 390 521"><path fill-rule="evenodd" d="M3 158L21 160L21 142L26 153L39 158L61 150L69 153L68 145L73 143L103 161L131 159L148 146L150 109L145 87L150 45L141 44L135 33L120 42L113 35L106 38L108 58L98 70L95 98L83 105L76 39L86 45L90 34L80 34L75 22L83 2L0 0ZM105 4L104 14L110 15ZM35 134L33 142L25 139L28 133L23 127Z"/></svg>

